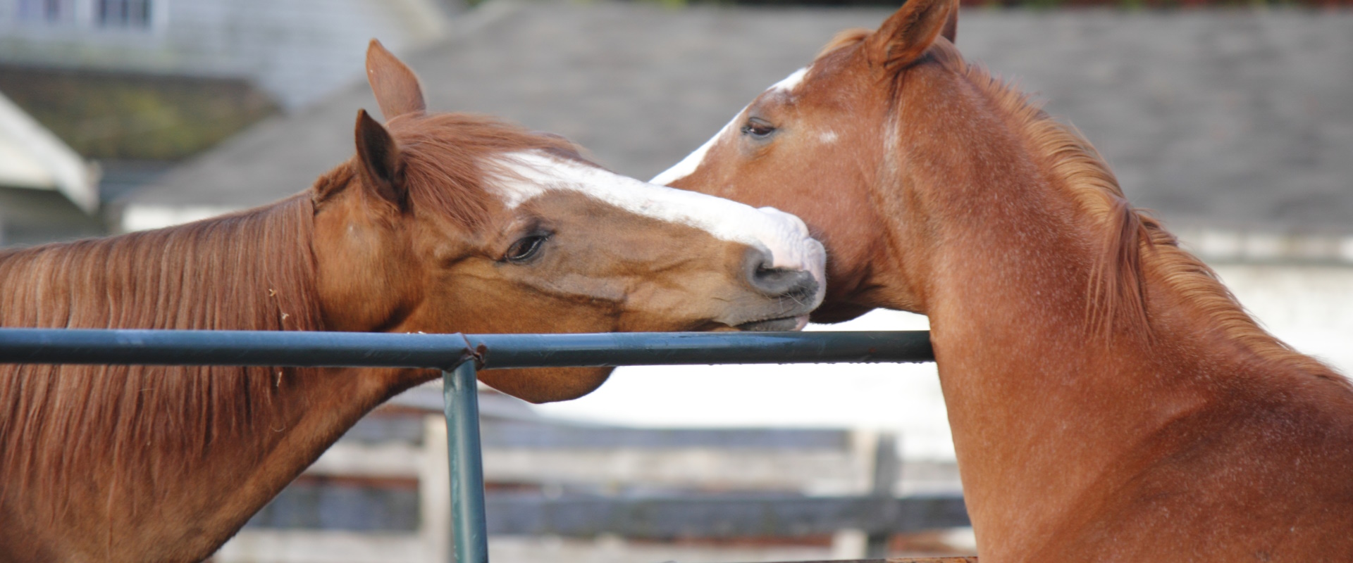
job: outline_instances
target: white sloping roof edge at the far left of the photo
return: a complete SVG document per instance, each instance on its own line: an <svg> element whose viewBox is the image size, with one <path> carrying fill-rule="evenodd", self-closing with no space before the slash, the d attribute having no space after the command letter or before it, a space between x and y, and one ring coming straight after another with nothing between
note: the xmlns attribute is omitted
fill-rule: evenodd
<svg viewBox="0 0 1353 563"><path fill-rule="evenodd" d="M99 209L99 170L0 95L0 186L61 192L85 213Z"/></svg>

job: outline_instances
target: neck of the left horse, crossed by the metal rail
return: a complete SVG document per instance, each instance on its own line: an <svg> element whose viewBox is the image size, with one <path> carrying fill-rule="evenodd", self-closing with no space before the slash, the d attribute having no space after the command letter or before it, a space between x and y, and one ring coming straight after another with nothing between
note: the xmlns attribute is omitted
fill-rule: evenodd
<svg viewBox="0 0 1353 563"><path fill-rule="evenodd" d="M0 325L322 328L307 203L0 255ZM111 559L203 558L406 379L386 370L0 366L0 404L9 405L0 474L26 483L5 487L0 506L58 524L51 529L88 528L88 549ZM30 424L31 413L43 423ZM108 502L91 509L87 498ZM157 544L206 551L157 554Z"/></svg>

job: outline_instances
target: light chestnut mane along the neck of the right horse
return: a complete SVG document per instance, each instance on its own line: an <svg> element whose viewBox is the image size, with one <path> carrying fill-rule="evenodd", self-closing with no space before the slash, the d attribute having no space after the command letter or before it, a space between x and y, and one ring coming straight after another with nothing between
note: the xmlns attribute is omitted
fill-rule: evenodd
<svg viewBox="0 0 1353 563"><path fill-rule="evenodd" d="M870 30L842 31L817 58L858 45L870 34ZM1260 327L1211 267L1180 248L1174 235L1157 219L1132 208L1103 157L1078 131L1049 116L1016 85L1000 80L982 65L970 65L946 39L936 39L927 57L965 77L1003 111L1023 134L1038 163L1059 180L1059 186L1088 216L1099 220L1103 251L1086 293L1091 333L1108 336L1111 331L1124 331L1151 339L1146 302L1150 270L1172 293L1197 306L1214 327L1256 356L1350 385L1329 366L1292 350Z"/></svg>

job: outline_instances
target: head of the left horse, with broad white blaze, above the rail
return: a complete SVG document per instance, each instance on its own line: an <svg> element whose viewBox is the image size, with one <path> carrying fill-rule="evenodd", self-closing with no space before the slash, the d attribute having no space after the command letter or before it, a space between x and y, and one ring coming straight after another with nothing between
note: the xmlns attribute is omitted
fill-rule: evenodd
<svg viewBox="0 0 1353 563"><path fill-rule="evenodd" d="M357 155L315 185L326 327L392 332L797 329L824 251L797 217L621 177L556 136L426 113L413 72L372 42ZM484 371L530 401L609 369Z"/></svg>

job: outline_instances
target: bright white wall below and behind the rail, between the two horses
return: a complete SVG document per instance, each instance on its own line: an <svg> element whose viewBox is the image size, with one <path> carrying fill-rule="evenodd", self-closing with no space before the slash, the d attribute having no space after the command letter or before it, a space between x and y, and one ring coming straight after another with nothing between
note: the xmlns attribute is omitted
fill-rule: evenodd
<svg viewBox="0 0 1353 563"><path fill-rule="evenodd" d="M919 315L875 311L809 329L928 327ZM954 459L932 363L622 367L590 396L537 409L647 427L886 428L901 432L904 458Z"/></svg>

